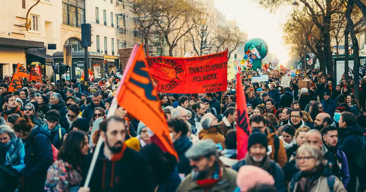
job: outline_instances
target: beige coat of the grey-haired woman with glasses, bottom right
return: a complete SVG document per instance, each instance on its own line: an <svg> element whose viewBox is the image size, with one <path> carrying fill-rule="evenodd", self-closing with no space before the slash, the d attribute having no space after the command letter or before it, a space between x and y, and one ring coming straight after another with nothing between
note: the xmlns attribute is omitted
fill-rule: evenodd
<svg viewBox="0 0 366 192"><path fill-rule="evenodd" d="M295 192L297 187L298 182L295 183L294 191L290 191L290 184L289 184L288 191ZM334 181L333 191L347 192L347 190L343 186L342 181L340 181L338 177L336 177L336 180ZM326 177L321 176L317 181L315 181L314 184L311 185L309 192L330 192L328 182L326 181Z"/></svg>

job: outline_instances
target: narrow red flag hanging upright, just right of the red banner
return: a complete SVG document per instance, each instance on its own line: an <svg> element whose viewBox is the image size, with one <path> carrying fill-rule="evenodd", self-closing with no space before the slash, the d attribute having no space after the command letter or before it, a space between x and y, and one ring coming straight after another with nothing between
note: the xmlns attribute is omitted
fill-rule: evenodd
<svg viewBox="0 0 366 192"><path fill-rule="evenodd" d="M236 101L238 105L238 119L236 120L236 140L238 141L238 160L245 158L248 147L248 139L251 134L247 102L243 90L243 83L240 79L240 74L236 74Z"/></svg>

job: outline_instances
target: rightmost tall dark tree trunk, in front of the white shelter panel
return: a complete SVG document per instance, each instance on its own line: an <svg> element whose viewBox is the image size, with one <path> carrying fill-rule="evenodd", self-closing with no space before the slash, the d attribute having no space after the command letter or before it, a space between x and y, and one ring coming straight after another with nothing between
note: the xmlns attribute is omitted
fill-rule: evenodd
<svg viewBox="0 0 366 192"><path fill-rule="evenodd" d="M359 67L360 67L360 58L358 55L359 52L359 47L358 47L358 40L355 34L355 26L354 23L352 21L351 18L351 12L353 10L355 1L354 0L348 0L348 5L347 5L347 9L346 9L346 19L347 19L347 23L348 23L348 27L350 30L350 35L351 35L351 40L352 40L352 46L353 46L353 60L354 60L354 65L353 65L353 76L354 76L354 94L356 97L356 100L359 101ZM351 87L350 87L351 88Z"/></svg>

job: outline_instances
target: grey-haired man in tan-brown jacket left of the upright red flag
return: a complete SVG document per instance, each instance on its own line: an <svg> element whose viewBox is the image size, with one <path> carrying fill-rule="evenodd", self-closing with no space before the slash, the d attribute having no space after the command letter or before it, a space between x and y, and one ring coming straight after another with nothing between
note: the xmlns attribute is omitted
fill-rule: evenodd
<svg viewBox="0 0 366 192"><path fill-rule="evenodd" d="M219 121L212 113L205 114L201 119L202 130L199 132L199 140L211 139L217 145L216 147L224 150L225 149L225 138L219 132Z"/></svg>

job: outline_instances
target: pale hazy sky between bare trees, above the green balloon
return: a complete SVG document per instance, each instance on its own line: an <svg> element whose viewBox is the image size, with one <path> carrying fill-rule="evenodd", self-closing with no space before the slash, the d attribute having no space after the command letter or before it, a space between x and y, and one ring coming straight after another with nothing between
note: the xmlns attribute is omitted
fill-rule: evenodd
<svg viewBox="0 0 366 192"><path fill-rule="evenodd" d="M290 5L270 13L255 0L215 0L215 8L226 16L226 20L236 20L240 30L248 33L248 39L264 39L269 52L277 56L280 64L287 65L290 56L282 38L282 25L291 11Z"/></svg>

